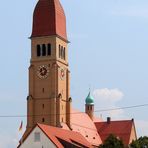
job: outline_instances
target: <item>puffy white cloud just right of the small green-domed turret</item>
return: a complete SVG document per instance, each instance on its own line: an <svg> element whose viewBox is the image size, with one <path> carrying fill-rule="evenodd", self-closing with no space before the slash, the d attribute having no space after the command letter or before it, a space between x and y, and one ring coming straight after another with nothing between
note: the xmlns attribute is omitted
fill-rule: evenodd
<svg viewBox="0 0 148 148"><path fill-rule="evenodd" d="M124 94L118 88L103 88L94 90L93 96L95 98L95 110L104 110L118 108L117 103L123 99ZM110 116L113 119L124 117L124 110L122 109L98 113L101 115L103 114L103 117Z"/></svg>

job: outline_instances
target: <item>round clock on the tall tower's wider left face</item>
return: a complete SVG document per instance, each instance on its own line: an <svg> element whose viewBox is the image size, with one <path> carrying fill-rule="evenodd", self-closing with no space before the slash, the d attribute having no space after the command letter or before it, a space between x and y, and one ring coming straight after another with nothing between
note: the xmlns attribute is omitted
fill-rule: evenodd
<svg viewBox="0 0 148 148"><path fill-rule="evenodd" d="M47 78L49 75L49 68L47 65L41 65L39 66L37 70L37 76L41 79Z"/></svg>

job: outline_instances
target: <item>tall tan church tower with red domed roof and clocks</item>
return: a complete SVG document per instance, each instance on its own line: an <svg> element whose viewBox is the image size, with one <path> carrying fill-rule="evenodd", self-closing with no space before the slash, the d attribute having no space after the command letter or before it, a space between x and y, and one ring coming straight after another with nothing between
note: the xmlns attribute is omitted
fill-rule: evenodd
<svg viewBox="0 0 148 148"><path fill-rule="evenodd" d="M39 0L33 14L27 130L36 123L70 126L66 17L59 0Z"/></svg>

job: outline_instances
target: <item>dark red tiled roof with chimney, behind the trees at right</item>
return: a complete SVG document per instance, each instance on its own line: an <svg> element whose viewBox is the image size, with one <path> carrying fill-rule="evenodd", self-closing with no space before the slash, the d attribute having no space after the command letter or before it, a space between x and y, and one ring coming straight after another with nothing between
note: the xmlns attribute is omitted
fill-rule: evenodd
<svg viewBox="0 0 148 148"><path fill-rule="evenodd" d="M104 141L110 134L114 134L122 139L124 144L129 144L133 126L132 120L110 121L109 123L96 122L95 125L102 141Z"/></svg>

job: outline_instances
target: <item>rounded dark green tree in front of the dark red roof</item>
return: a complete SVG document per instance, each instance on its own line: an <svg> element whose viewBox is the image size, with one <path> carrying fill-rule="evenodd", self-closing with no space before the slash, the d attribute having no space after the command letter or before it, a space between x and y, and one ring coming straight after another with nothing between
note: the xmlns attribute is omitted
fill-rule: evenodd
<svg viewBox="0 0 148 148"><path fill-rule="evenodd" d="M122 140L111 134L99 148L124 148L124 144Z"/></svg>

